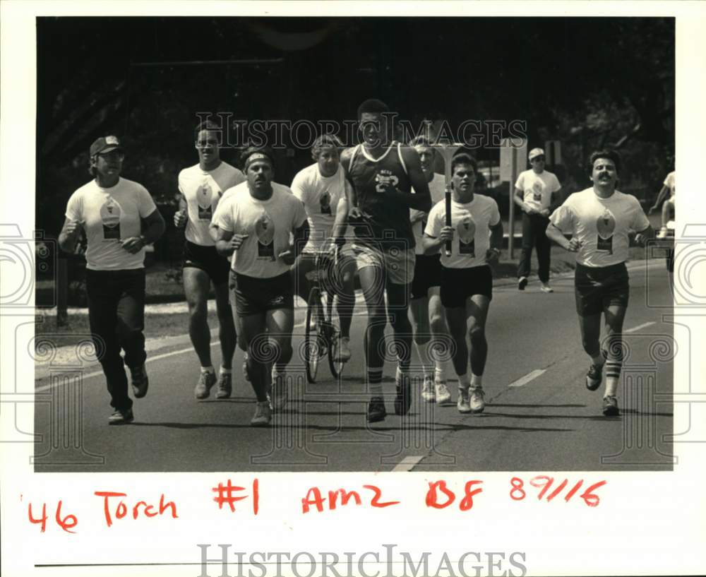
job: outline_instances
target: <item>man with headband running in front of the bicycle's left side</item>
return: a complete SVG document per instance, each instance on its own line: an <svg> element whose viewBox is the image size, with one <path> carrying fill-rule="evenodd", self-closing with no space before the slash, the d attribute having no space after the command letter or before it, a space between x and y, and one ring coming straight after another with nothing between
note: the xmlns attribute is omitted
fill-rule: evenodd
<svg viewBox="0 0 706 577"><path fill-rule="evenodd" d="M232 256L234 313L248 349L247 371L257 397L250 424L266 427L272 410L281 410L287 403L284 371L292 358L294 326L289 267L309 238L309 222L301 201L287 186L273 182L275 161L270 148L246 148L241 160L247 180L226 191L213 224L218 227L217 251ZM289 246L290 233L293 246ZM272 408L267 391L270 361L274 365Z"/></svg>

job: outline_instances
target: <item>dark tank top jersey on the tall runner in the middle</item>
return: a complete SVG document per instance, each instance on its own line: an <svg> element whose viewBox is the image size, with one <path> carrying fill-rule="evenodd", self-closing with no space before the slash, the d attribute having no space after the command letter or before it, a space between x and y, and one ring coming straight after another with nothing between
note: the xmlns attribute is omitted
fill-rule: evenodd
<svg viewBox="0 0 706 577"><path fill-rule="evenodd" d="M358 208L369 216L368 226L354 227L356 242L383 242L386 249L413 249L409 209L384 194L388 184L403 192L412 191L402 144L393 141L378 159L366 153L363 145L357 145L348 165L348 178L356 191Z"/></svg>

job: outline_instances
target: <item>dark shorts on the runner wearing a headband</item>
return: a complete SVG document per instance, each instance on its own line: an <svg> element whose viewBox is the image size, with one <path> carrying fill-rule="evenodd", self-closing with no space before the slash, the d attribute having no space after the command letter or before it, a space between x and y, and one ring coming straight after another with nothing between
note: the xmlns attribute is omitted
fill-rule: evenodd
<svg viewBox="0 0 706 577"><path fill-rule="evenodd" d="M250 316L275 309L294 309L292 275L289 272L273 278L254 278L234 273L235 311Z"/></svg>

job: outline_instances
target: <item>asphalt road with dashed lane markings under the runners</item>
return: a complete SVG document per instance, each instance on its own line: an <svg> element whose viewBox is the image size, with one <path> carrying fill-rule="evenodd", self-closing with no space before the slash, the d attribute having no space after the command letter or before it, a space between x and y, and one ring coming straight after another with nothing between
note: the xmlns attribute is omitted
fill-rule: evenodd
<svg viewBox="0 0 706 577"><path fill-rule="evenodd" d="M649 272L648 272L649 271ZM486 329L486 410L460 415L419 398L407 417L393 411L395 365L383 381L388 417L366 424L362 335L364 306L352 328L352 360L340 382L328 366L306 384L303 364L289 367L290 401L273 426L249 426L254 395L236 353L232 398L197 401L198 362L188 341L152 344L150 391L136 400L136 420L110 427L100 367L73 379L36 381L35 469L42 471L522 471L671 470L673 326L664 263L630 271L626 318L629 355L619 389L620 417L602 415L602 389L587 391L573 278L553 282L553 295L531 284L495 287ZM648 307L647 304L651 306ZM295 359L304 311L297 311ZM389 336L389 332L388 332ZM155 347L157 347L155 349ZM219 347L213 347L213 362ZM449 364L448 375L455 376ZM456 396L456 383L449 382ZM213 391L215 393L215 391Z"/></svg>

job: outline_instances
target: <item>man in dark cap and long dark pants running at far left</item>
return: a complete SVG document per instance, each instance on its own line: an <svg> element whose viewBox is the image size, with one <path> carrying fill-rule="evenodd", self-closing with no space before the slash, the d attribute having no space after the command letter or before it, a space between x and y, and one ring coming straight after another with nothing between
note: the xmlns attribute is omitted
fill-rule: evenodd
<svg viewBox="0 0 706 577"><path fill-rule="evenodd" d="M114 409L108 424L127 424L135 419L125 365L130 369L135 398L147 394L145 245L164 233L164 219L150 193L120 176L123 160L124 149L116 136L92 143L89 172L93 179L68 199L66 221L59 234L59 246L68 253L76 249L80 229L88 240L88 321Z"/></svg>

